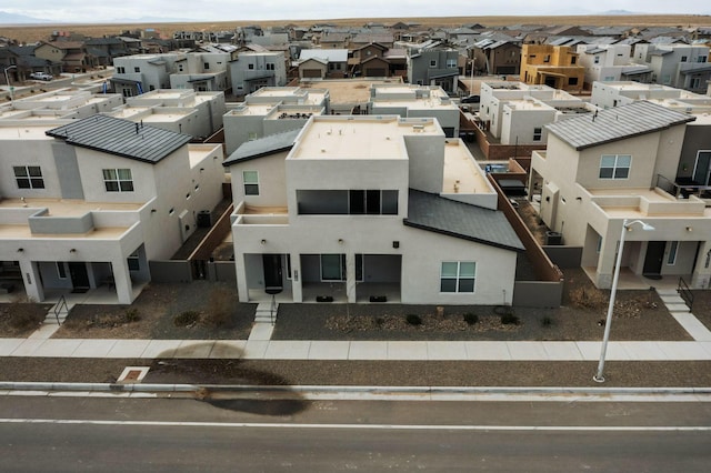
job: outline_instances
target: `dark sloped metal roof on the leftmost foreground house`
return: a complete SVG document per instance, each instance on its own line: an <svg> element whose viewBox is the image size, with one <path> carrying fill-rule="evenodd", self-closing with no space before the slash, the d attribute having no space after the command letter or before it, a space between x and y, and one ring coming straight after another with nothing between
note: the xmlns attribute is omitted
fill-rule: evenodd
<svg viewBox="0 0 711 473"><path fill-rule="evenodd" d="M54 128L47 134L69 144L151 164L191 140L189 134L99 114Z"/></svg>

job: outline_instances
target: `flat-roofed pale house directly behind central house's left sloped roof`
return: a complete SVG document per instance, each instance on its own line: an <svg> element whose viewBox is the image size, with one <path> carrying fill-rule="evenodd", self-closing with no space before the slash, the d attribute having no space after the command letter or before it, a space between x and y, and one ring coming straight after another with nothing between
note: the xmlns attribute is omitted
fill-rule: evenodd
<svg viewBox="0 0 711 473"><path fill-rule="evenodd" d="M327 89L264 87L230 108L223 117L228 155L242 143L291 130L300 130L311 115L328 113Z"/></svg>

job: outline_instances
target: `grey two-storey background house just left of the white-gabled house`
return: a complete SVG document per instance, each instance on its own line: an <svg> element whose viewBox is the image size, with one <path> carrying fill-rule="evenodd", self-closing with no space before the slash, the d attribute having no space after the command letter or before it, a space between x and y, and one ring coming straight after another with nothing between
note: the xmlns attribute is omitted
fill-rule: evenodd
<svg viewBox="0 0 711 473"><path fill-rule="evenodd" d="M230 62L232 93L244 95L262 87L287 85L287 59L283 52L240 52Z"/></svg>

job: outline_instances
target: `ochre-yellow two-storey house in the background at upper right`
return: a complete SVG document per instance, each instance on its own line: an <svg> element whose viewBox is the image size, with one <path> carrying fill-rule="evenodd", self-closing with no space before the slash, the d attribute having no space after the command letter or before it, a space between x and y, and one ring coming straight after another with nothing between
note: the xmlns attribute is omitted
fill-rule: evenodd
<svg viewBox="0 0 711 473"><path fill-rule="evenodd" d="M523 44L521 80L545 84L567 92L581 92L585 68L578 64L578 53L568 46Z"/></svg>

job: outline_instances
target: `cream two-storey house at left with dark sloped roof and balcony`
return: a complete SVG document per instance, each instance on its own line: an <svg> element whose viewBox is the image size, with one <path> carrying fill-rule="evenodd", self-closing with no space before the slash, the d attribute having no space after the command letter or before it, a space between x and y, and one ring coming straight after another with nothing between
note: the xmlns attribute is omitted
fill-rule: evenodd
<svg viewBox="0 0 711 473"><path fill-rule="evenodd" d="M97 114L0 127L0 261L43 301L107 286L131 303L221 199L222 149ZM4 263L3 263L4 265Z"/></svg>

